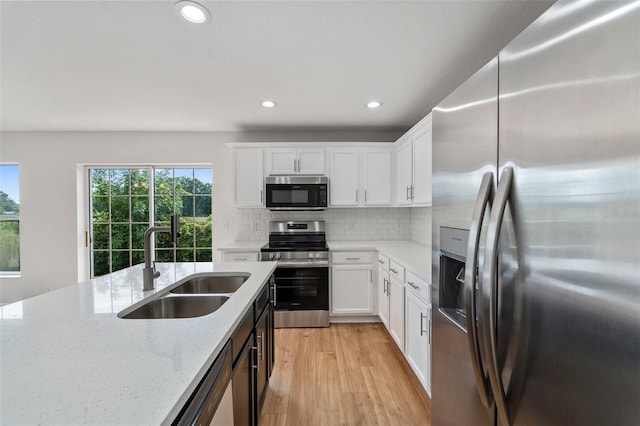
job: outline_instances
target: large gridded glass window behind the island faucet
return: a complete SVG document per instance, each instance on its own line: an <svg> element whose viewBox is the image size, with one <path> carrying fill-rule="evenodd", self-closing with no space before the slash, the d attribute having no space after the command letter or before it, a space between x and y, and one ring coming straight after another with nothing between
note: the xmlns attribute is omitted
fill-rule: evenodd
<svg viewBox="0 0 640 426"><path fill-rule="evenodd" d="M180 214L177 247L155 234L158 262L212 261L210 168L91 168L91 276L144 262L144 233Z"/></svg>

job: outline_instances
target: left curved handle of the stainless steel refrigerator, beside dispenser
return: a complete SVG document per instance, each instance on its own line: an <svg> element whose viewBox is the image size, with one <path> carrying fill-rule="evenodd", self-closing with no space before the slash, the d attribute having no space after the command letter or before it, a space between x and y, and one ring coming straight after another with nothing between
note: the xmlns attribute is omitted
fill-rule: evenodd
<svg viewBox="0 0 640 426"><path fill-rule="evenodd" d="M469 243L467 246L467 262L465 266L464 277L464 298L466 302L467 317L467 339L469 342L469 351L471 352L473 374L476 379L476 387L482 405L490 408L493 404L491 396L490 384L488 378L484 374L482 368L482 360L480 356L480 340L478 325L476 322L476 285L478 268L478 251L480 248L480 233L482 231L482 221L487 207L491 207L491 198L493 196L493 173L486 172L482 176L480 189L473 208L471 216L471 227L469 228ZM488 361L487 361L488 362Z"/></svg>

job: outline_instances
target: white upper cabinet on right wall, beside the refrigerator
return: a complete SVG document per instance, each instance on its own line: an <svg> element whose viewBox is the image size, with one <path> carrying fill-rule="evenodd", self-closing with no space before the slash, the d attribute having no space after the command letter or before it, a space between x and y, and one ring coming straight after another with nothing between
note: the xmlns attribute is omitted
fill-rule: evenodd
<svg viewBox="0 0 640 426"><path fill-rule="evenodd" d="M431 205L431 114L397 141L396 202L400 206Z"/></svg>

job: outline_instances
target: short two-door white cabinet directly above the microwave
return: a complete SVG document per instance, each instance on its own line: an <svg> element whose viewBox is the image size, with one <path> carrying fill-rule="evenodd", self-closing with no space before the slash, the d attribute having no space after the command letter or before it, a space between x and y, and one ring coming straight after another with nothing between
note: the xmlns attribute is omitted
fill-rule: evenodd
<svg viewBox="0 0 640 426"><path fill-rule="evenodd" d="M322 148L271 148L267 150L270 175L324 175L325 150Z"/></svg>

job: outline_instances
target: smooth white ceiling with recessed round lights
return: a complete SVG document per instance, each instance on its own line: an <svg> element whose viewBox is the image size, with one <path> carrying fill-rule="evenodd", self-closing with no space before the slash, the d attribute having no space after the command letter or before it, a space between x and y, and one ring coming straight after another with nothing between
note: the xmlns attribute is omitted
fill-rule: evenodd
<svg viewBox="0 0 640 426"><path fill-rule="evenodd" d="M551 4L201 3L2 0L2 130L406 130Z"/></svg>

